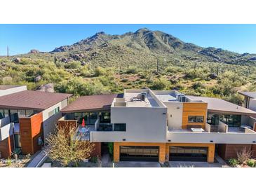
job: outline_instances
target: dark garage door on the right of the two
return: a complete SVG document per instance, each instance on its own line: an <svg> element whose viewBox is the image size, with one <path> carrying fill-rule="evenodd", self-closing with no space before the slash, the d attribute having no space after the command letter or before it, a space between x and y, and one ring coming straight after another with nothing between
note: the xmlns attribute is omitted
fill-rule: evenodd
<svg viewBox="0 0 256 192"><path fill-rule="evenodd" d="M207 161L208 147L170 146L170 161Z"/></svg>

